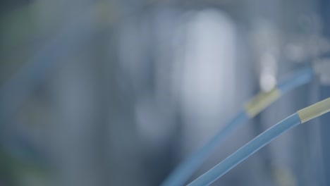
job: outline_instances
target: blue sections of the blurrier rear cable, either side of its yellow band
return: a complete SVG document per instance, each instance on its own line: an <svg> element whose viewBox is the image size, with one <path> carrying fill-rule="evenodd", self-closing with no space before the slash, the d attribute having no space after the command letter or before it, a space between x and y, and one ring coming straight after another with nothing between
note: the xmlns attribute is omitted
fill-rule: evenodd
<svg viewBox="0 0 330 186"><path fill-rule="evenodd" d="M314 71L312 67L307 66L295 70L286 80L279 82L277 89L281 95L286 92L299 87L300 85L305 85L307 82L312 80L314 76ZM177 168L169 175L161 186L181 186L190 178L193 173L199 168L207 157L212 153L212 151L217 147L224 139L236 130L240 125L245 123L251 117L246 111L240 111L238 115L231 120L223 129L221 129L216 136L214 136L207 144L201 149L197 150L195 154L192 154L179 164Z"/></svg>

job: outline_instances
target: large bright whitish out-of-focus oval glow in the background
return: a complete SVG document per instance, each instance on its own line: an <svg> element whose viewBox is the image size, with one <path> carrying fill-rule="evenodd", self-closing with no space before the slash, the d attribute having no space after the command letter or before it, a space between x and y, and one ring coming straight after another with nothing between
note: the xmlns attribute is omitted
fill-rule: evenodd
<svg viewBox="0 0 330 186"><path fill-rule="evenodd" d="M234 30L218 11L197 13L188 24L183 69L183 101L187 111L216 116L225 92L233 87Z"/></svg>

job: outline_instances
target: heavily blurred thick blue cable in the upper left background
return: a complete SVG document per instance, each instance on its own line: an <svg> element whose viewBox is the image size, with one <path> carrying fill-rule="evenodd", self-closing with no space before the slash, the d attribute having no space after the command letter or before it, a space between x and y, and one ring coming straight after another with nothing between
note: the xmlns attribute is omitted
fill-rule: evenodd
<svg viewBox="0 0 330 186"><path fill-rule="evenodd" d="M69 21L68 25L40 49L11 80L0 87L0 119L10 118L35 88L75 54L94 33L90 14Z"/></svg>

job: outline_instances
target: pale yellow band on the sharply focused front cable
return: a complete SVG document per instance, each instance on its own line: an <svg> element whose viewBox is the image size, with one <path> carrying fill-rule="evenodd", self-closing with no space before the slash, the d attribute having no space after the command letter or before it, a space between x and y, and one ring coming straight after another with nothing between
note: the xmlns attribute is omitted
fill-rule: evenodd
<svg viewBox="0 0 330 186"><path fill-rule="evenodd" d="M330 111L330 98L324 99L323 101L319 101L316 104L306 107L305 109L301 109L298 111L298 115L300 117L301 123L305 123L312 118L316 118L317 116L321 116L324 113Z"/></svg>

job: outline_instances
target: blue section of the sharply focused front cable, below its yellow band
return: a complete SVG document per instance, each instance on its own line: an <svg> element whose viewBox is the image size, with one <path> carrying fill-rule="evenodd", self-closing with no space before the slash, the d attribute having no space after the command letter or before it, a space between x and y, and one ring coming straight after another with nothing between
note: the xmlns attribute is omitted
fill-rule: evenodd
<svg viewBox="0 0 330 186"><path fill-rule="evenodd" d="M301 122L298 113L294 113L285 120L282 120L280 123L277 123L273 127L269 128L261 135L255 137L255 139L253 139L251 142L245 144L243 147L238 149L238 151L233 153L231 156L228 156L228 158L224 159L224 161L216 165L211 170L207 171L207 173L201 175L188 186L204 186L212 184L212 182L219 179L222 175L237 166L238 163L247 159L266 144L269 144L269 142L283 134L283 132L290 130L300 123Z"/></svg>

